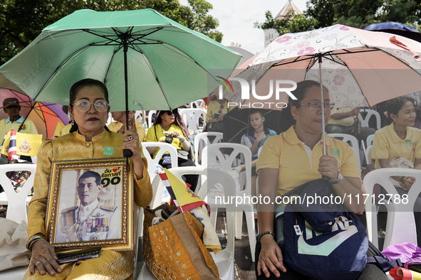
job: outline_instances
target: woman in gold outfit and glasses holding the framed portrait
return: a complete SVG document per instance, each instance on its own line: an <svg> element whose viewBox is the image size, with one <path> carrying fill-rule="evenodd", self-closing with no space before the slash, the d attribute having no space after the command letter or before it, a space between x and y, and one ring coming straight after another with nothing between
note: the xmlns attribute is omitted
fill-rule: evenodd
<svg viewBox="0 0 421 280"><path fill-rule="evenodd" d="M85 261L57 264L54 248L43 237L46 233L46 205L51 176L51 162L76 159L122 157L123 149L133 153L135 203L147 207L152 200L152 186L146 160L140 154L136 131L117 134L105 129L108 119L108 90L98 80L84 79L71 87L70 106L72 129L70 134L56 139L44 139L38 151L34 195L28 212L28 249L31 264L25 279L132 279L134 252L105 250L100 257ZM112 147L113 155L104 149Z"/></svg>

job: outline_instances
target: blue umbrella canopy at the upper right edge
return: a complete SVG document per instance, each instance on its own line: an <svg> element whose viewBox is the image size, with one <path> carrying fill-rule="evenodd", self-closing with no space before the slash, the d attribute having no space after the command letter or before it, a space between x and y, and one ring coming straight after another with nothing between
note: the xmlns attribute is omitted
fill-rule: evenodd
<svg viewBox="0 0 421 280"><path fill-rule="evenodd" d="M409 24L405 23L395 21L372 23L369 26L365 26L364 30L393 33L421 42L420 31L414 26L410 26Z"/></svg>

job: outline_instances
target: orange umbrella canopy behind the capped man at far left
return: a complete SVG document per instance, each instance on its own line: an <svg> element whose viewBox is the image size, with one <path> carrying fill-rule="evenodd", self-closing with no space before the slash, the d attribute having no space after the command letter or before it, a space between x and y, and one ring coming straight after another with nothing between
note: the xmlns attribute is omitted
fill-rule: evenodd
<svg viewBox="0 0 421 280"><path fill-rule="evenodd" d="M0 89L0 119L9 117L3 109L3 101L6 98L14 97L21 105L21 116L29 119L35 124L38 134L43 138L52 138L57 124L68 124L68 116L63 112L62 105L47 102L33 102L31 98L14 90Z"/></svg>

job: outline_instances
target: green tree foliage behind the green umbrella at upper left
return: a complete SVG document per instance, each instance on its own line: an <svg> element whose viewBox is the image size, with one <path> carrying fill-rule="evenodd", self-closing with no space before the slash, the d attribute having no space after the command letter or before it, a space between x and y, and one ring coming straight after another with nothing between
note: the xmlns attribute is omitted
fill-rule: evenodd
<svg viewBox="0 0 421 280"><path fill-rule="evenodd" d="M125 11L155 9L164 16L222 41L217 18L209 15L212 4L205 0L3 0L0 1L0 65L23 50L44 27L80 9Z"/></svg>

